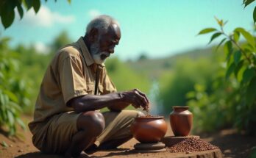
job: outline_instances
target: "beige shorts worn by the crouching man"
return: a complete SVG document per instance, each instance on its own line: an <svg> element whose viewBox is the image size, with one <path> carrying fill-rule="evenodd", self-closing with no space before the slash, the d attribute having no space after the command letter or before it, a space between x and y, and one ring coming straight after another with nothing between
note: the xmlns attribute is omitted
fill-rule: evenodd
<svg viewBox="0 0 256 158"><path fill-rule="evenodd" d="M46 153L65 153L71 144L71 139L77 133L77 118L81 113L65 112L51 118L51 123L43 137L42 146L37 146ZM133 118L138 117L139 112L135 110L123 110L121 112L103 112L105 129L96 140L96 145L107 140L118 140L131 136L129 130ZM35 144L36 146L36 144Z"/></svg>

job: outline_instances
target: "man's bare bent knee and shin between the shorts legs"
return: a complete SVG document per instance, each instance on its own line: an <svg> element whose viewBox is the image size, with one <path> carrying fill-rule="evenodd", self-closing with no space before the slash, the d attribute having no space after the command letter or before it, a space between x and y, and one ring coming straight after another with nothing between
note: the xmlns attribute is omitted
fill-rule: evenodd
<svg viewBox="0 0 256 158"><path fill-rule="evenodd" d="M81 152L93 144L104 130L104 117L100 112L83 112L77 118L77 129L79 132L72 137L65 157L85 157Z"/></svg>

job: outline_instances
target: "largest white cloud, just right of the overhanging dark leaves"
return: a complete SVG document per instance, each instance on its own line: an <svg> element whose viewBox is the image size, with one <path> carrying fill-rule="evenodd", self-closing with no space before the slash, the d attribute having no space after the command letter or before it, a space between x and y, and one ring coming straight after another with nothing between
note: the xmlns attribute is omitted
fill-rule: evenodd
<svg viewBox="0 0 256 158"><path fill-rule="evenodd" d="M51 12L51 10L46 6L41 6L37 14L35 14L33 9L26 12L20 23L29 26L50 27L57 23L71 24L74 21L74 15L60 15L58 12Z"/></svg>

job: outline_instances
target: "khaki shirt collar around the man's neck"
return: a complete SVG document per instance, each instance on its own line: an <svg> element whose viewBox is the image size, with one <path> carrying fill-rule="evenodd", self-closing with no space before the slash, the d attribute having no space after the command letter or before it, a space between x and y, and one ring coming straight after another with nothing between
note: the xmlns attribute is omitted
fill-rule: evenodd
<svg viewBox="0 0 256 158"><path fill-rule="evenodd" d="M79 40L77 40L77 43L78 43L80 49L82 50L82 55L85 58L86 65L88 65L88 66L93 65L93 63L94 63L93 57L90 55L90 52L89 52L87 46L85 45L85 41L83 40L83 38L79 37ZM104 65L104 63L102 63L100 66L104 67L105 65Z"/></svg>

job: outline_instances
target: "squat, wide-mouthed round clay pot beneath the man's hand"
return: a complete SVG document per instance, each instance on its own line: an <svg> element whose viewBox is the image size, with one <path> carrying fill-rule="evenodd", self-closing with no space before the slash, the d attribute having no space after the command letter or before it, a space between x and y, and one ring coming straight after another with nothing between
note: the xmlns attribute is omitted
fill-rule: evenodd
<svg viewBox="0 0 256 158"><path fill-rule="evenodd" d="M133 137L141 143L157 143L166 131L167 124L163 116L135 118L131 125Z"/></svg>

